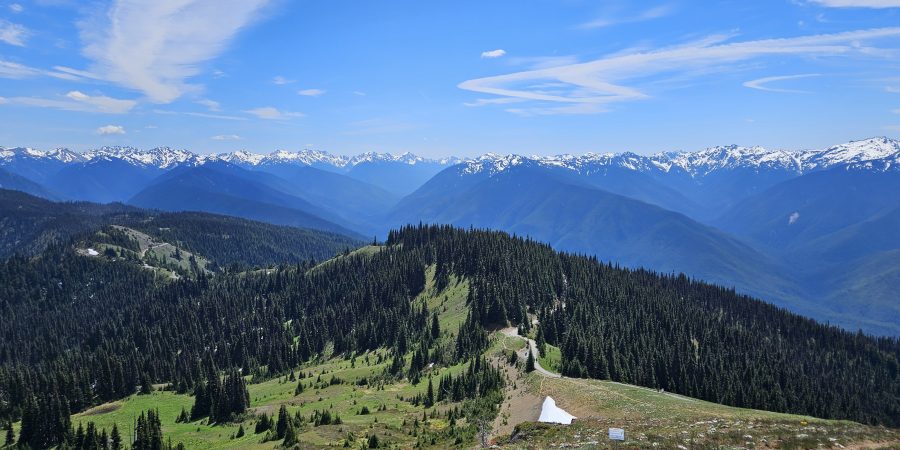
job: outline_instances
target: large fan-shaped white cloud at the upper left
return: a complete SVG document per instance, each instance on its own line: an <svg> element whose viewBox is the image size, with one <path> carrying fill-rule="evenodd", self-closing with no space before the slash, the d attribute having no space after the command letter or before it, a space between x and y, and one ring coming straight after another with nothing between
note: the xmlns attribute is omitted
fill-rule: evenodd
<svg viewBox="0 0 900 450"><path fill-rule="evenodd" d="M90 72L168 103L268 0L114 0L81 24Z"/></svg>

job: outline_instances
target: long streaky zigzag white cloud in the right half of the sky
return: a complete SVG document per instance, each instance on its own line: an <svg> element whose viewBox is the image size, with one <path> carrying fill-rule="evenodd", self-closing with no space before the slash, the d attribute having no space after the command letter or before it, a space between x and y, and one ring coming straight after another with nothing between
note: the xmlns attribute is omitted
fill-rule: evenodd
<svg viewBox="0 0 900 450"><path fill-rule="evenodd" d="M526 70L464 81L459 88L517 98L539 103L519 108L514 113L585 114L605 111L617 102L649 98L639 85L661 79L695 79L711 73L733 70L735 63L758 60L767 56L803 57L860 57L871 58L885 53L875 51L865 43L887 42L897 46L900 27L849 31L783 39L764 39L728 43L728 37L709 39L639 53L615 55L594 61ZM879 50L879 49L875 49ZM548 92L534 86L543 83L563 85ZM587 104L591 107L570 108L548 106L553 103Z"/></svg>

